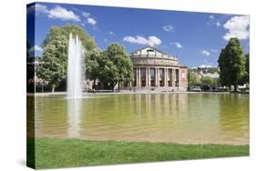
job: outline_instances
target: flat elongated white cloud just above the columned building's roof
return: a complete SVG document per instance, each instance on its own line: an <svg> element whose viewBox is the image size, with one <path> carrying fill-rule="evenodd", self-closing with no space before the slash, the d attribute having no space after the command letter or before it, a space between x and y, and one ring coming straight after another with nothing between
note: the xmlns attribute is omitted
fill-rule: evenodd
<svg viewBox="0 0 256 171"><path fill-rule="evenodd" d="M160 45L162 42L157 36L148 36L148 38L137 35L137 36L126 36L123 39L124 42L129 42L131 44L139 45Z"/></svg>

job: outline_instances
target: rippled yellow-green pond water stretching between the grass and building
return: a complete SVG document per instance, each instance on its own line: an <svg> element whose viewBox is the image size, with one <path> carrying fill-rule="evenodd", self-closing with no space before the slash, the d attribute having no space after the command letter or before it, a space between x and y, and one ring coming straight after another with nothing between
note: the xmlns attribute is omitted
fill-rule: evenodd
<svg viewBox="0 0 256 171"><path fill-rule="evenodd" d="M36 137L249 144L249 95L36 96L35 112Z"/></svg>

